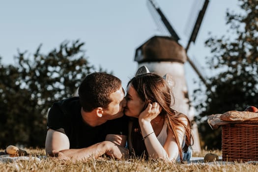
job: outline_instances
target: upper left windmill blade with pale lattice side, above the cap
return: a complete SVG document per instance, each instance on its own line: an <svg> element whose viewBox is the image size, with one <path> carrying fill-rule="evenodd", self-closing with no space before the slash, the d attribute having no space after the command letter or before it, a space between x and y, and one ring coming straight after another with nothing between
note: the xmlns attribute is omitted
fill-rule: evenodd
<svg viewBox="0 0 258 172"><path fill-rule="evenodd" d="M155 3L155 4L154 4ZM180 39L154 0L147 0L148 9L158 28L178 42Z"/></svg>

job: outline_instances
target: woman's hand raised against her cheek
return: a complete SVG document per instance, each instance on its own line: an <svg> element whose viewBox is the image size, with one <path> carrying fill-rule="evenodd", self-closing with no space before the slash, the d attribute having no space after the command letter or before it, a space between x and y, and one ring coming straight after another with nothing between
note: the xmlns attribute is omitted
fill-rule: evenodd
<svg viewBox="0 0 258 172"><path fill-rule="evenodd" d="M145 120L150 122L161 113L162 107L157 103L149 103L147 108L139 115L139 121Z"/></svg>

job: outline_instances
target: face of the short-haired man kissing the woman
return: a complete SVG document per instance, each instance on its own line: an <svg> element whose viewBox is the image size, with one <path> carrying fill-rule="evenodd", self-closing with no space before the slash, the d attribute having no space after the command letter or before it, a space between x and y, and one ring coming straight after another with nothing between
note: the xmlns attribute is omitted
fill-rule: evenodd
<svg viewBox="0 0 258 172"><path fill-rule="evenodd" d="M122 86L111 93L110 98L112 99L112 102L108 105L108 108L104 109L103 115L107 116L109 120L123 116L126 100L124 98L124 89Z"/></svg>

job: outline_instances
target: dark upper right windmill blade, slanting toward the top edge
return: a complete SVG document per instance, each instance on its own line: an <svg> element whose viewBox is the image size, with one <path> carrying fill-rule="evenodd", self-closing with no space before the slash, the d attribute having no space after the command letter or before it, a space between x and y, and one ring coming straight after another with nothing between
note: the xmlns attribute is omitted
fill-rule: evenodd
<svg viewBox="0 0 258 172"><path fill-rule="evenodd" d="M209 3L209 0L205 0L204 3L203 3L203 6L199 12L199 15L198 15L198 18L196 20L196 23L195 23L195 26L193 28L193 31L191 33L191 36L188 40L188 43L187 43L187 46L185 48L185 51L187 52L189 47L190 47L190 44L191 42L194 42L195 43L195 40L196 40L196 37L197 37L197 34L199 32L199 29L201 27L201 22L202 22L202 19L203 19L203 16L205 14L205 11L207 9L207 6L208 6L208 3Z"/></svg>

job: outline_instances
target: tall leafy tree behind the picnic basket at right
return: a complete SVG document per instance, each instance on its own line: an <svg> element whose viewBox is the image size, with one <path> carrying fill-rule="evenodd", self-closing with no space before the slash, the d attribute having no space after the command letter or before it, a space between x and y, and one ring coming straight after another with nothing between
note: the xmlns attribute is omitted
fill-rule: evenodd
<svg viewBox="0 0 258 172"><path fill-rule="evenodd" d="M209 78L206 90L194 92L201 102L196 106L199 131L209 149L221 148L221 130L212 130L205 116L258 106L258 0L239 0L239 7L239 14L227 11L229 34L205 42L212 54L206 63L217 75Z"/></svg>

